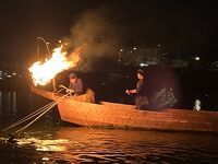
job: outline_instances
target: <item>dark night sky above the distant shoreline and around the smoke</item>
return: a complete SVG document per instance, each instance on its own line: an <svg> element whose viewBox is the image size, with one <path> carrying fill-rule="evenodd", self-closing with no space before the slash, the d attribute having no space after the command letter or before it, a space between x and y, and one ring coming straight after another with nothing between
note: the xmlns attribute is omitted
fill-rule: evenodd
<svg viewBox="0 0 218 164"><path fill-rule="evenodd" d="M2 1L0 59L31 62L37 54L38 36L55 47L58 39L71 35L80 15L88 12L104 13L105 21L114 31L118 47L155 47L160 44L174 56L196 55L203 59L218 59L218 10L215 3L197 0Z"/></svg>

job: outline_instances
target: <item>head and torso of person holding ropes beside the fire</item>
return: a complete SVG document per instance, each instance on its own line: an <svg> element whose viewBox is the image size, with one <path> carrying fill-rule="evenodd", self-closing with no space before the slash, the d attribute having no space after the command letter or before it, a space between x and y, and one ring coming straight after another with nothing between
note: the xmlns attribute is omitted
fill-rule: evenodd
<svg viewBox="0 0 218 164"><path fill-rule="evenodd" d="M71 93L72 95L81 95L84 93L83 81L77 78L75 72L71 72L69 74L69 89L66 89L66 93Z"/></svg>

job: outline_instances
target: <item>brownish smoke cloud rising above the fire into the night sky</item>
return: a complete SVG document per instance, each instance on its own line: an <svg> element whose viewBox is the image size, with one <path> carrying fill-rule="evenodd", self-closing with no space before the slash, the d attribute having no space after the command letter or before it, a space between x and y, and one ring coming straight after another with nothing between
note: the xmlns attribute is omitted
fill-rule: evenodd
<svg viewBox="0 0 218 164"><path fill-rule="evenodd" d="M92 10L75 19L71 36L65 38L72 49L85 44L82 60L75 69L89 71L101 58L116 58L119 36L107 11L105 8Z"/></svg>

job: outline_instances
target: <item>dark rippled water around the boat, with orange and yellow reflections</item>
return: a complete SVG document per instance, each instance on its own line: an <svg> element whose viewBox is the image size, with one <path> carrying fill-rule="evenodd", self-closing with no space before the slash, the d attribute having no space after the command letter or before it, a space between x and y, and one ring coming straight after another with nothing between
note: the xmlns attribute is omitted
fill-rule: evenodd
<svg viewBox="0 0 218 164"><path fill-rule="evenodd" d="M7 141L21 127L4 127L47 103L28 90L0 91L0 163L218 163L218 134L75 127L57 108Z"/></svg>

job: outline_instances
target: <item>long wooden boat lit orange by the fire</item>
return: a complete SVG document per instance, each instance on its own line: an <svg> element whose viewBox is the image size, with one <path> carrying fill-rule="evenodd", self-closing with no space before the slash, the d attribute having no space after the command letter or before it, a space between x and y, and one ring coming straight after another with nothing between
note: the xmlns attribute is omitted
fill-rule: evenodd
<svg viewBox="0 0 218 164"><path fill-rule="evenodd" d="M218 132L218 113L189 109L165 109L161 112L138 110L133 105L109 102L87 103L88 94L64 97L61 94L32 87L40 96L58 102L62 120L81 126L147 129L167 131Z"/></svg>

